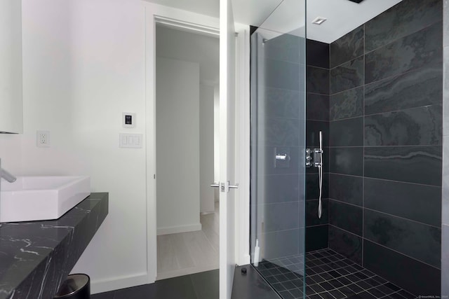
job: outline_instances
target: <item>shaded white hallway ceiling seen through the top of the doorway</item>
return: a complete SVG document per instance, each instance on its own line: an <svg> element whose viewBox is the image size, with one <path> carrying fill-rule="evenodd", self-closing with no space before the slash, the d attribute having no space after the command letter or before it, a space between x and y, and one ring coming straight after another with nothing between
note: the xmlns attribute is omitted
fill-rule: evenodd
<svg viewBox="0 0 449 299"><path fill-rule="evenodd" d="M198 63L199 80L206 85L219 83L219 44L212 36L156 26L156 56Z"/></svg>

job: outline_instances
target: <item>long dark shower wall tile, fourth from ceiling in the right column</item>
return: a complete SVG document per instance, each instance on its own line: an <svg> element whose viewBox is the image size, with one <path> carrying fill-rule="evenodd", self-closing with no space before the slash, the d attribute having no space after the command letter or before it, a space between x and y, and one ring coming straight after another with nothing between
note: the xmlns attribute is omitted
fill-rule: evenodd
<svg viewBox="0 0 449 299"><path fill-rule="evenodd" d="M442 116L441 105L366 116L365 146L441 145ZM333 123L330 123L330 134L333 134Z"/></svg>

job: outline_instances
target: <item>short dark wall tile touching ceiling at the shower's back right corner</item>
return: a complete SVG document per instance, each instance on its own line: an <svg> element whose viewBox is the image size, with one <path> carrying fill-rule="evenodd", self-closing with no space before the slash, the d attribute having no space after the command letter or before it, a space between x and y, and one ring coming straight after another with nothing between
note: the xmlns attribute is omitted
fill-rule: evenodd
<svg viewBox="0 0 449 299"><path fill-rule="evenodd" d="M330 43L330 68L363 55L363 36L363 26L361 26Z"/></svg>

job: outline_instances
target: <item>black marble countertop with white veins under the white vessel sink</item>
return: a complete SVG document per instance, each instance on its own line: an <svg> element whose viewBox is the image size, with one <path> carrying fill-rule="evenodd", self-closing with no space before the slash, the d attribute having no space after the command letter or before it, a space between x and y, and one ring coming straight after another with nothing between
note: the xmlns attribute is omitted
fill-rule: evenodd
<svg viewBox="0 0 449 299"><path fill-rule="evenodd" d="M0 299L53 298L105 220L108 197L92 193L57 220L1 223Z"/></svg>

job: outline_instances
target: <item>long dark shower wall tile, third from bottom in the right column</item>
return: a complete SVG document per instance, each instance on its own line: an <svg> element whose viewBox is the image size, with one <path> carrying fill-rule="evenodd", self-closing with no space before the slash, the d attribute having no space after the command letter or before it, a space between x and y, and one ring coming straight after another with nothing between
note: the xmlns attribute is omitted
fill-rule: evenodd
<svg viewBox="0 0 449 299"><path fill-rule="evenodd" d="M429 225L440 225L441 187L369 178L364 180L366 208ZM332 179L330 186L332 190Z"/></svg>

